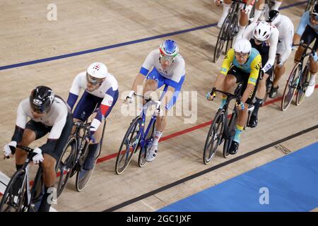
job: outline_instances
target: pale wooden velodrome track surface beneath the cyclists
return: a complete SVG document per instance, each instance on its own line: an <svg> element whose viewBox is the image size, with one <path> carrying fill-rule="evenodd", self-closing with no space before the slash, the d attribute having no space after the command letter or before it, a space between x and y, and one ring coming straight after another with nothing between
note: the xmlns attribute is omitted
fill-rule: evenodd
<svg viewBox="0 0 318 226"><path fill-rule="evenodd" d="M300 1L286 0L282 6L297 2ZM28 97L36 85L47 85L66 99L76 74L86 70L93 61L102 61L117 78L120 92L120 100L107 120L101 159L88 186L78 193L72 178L58 204L52 206L57 210L158 210L282 157L286 154L282 150L293 152L317 142L318 129L313 129L270 145L269 148L262 148L253 155L223 167L216 167L211 172L196 174L228 160L221 156L220 147L213 162L209 165L202 162L208 121L213 119L219 105L218 100L206 101L205 95L220 69L221 60L213 64L212 54L218 35L215 25L221 8L217 8L211 0L55 0L57 20L49 21L47 5L50 3L36 0L0 2L0 146L3 147L11 139L18 103ZM304 8L305 4L300 4L282 9L281 13L290 16L297 27ZM199 28L204 25L207 26ZM180 30L186 32L178 33ZM169 33L172 34L165 35ZM196 120L190 120L191 116L184 112L181 116L169 117L155 161L139 168L136 155L126 171L117 175L114 172L116 158L112 154L117 153L122 137L133 119L121 113L123 92L130 90L147 54L158 48L167 37L178 42L180 54L186 61L187 77L182 90L190 92L190 97L197 97L190 107L194 117L192 119ZM134 40L140 42L48 61L29 62ZM288 59L278 96L282 95L285 79L293 66L294 54ZM13 65L23 62L29 63ZM191 94L192 91L197 92L196 95ZM259 111L259 126L243 132L240 150L230 159L316 126L317 98L316 90L302 105L297 107L292 104L286 112L280 110L281 100L269 102ZM178 103L181 105L181 98ZM192 123L184 123L184 119ZM35 142L32 146L43 141ZM14 160L1 158L0 170L10 177L15 170ZM187 177L187 180L172 184ZM124 203L126 201L129 202Z"/></svg>

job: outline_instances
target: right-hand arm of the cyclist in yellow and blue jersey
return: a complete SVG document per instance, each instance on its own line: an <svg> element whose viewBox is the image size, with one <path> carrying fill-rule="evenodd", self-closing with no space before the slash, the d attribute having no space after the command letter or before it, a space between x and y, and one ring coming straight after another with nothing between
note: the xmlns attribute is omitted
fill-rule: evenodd
<svg viewBox="0 0 318 226"><path fill-rule="evenodd" d="M247 82L247 88L242 95L242 102L246 102L249 95L255 88L257 79L259 78L259 70L261 69L261 55L257 55L251 63L251 73L249 73L249 81Z"/></svg>

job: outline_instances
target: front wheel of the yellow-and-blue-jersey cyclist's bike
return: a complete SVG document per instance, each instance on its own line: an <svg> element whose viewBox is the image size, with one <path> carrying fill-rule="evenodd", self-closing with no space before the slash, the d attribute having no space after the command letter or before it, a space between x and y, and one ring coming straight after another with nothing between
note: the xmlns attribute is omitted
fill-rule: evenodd
<svg viewBox="0 0 318 226"><path fill-rule="evenodd" d="M208 162L211 162L216 153L218 145L220 145L221 143L225 127L225 117L225 110L218 109L216 117L214 117L211 127L208 130L208 136L206 136L206 143L204 144L203 155L204 164L208 164Z"/></svg>

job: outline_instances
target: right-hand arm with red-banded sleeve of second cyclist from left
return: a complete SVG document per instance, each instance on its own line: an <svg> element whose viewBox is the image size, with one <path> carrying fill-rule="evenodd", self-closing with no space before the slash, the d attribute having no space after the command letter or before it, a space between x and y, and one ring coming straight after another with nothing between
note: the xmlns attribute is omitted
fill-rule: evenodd
<svg viewBox="0 0 318 226"><path fill-rule="evenodd" d="M112 87L107 90L105 97L102 99L102 103L98 109L98 112L90 124L90 131L95 133L98 130L98 127L102 123L103 119L106 119L110 113L112 106L114 105L114 96L117 94L117 90L113 90Z"/></svg>

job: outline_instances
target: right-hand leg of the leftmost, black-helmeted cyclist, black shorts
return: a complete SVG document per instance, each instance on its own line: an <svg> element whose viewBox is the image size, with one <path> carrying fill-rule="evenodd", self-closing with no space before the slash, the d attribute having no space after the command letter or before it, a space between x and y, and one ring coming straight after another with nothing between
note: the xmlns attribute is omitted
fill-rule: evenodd
<svg viewBox="0 0 318 226"><path fill-rule="evenodd" d="M45 194L42 197L42 201L39 207L39 212L48 212L49 207L52 204L52 198L56 197L52 195L56 190L54 189L54 182L57 179L57 175L55 174L55 165L57 161L59 161L59 157L63 153L63 148L66 145L66 142L69 139L71 134L71 129L73 126L73 117L72 114L69 113L66 117L66 123L64 125L63 130L61 131L61 135L57 140L54 149L51 151L44 151L44 161L42 162L43 169L43 180L45 184Z"/></svg>

